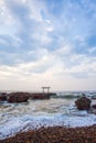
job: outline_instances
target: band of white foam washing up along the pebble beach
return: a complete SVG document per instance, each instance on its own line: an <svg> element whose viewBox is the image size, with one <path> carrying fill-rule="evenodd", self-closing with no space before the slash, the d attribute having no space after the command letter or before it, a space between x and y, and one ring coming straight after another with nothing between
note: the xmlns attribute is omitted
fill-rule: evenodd
<svg viewBox="0 0 96 143"><path fill-rule="evenodd" d="M11 118L7 123L0 125L0 139L11 136L20 131L39 129L41 127L66 125L66 127L88 127L96 123L96 116L68 117L64 114L31 117L23 116Z"/></svg>

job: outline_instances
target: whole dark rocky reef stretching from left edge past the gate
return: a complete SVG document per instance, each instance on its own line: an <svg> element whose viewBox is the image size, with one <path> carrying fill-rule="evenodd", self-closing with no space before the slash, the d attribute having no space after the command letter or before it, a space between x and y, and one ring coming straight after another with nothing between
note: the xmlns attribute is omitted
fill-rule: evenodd
<svg viewBox="0 0 96 143"><path fill-rule="evenodd" d="M54 92L0 92L0 101L28 102L29 99L50 99L51 96L56 96Z"/></svg>

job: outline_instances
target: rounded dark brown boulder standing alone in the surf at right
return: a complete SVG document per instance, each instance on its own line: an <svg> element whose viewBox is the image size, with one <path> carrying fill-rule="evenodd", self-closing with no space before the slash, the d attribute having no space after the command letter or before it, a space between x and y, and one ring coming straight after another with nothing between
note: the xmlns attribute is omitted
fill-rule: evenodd
<svg viewBox="0 0 96 143"><path fill-rule="evenodd" d="M75 105L78 110L88 110L90 109L90 99L86 97L81 97L75 101Z"/></svg>

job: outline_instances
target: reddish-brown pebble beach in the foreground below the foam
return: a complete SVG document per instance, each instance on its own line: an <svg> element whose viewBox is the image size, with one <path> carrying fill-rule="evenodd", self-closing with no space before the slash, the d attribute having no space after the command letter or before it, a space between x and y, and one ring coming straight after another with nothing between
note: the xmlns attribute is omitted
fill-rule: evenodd
<svg viewBox="0 0 96 143"><path fill-rule="evenodd" d="M96 143L96 124L84 128L40 128L18 133L0 143Z"/></svg>

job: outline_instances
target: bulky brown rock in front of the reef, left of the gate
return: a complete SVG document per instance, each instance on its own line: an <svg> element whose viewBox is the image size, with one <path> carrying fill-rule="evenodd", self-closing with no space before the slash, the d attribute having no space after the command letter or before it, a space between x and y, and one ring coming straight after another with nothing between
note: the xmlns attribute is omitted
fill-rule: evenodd
<svg viewBox="0 0 96 143"><path fill-rule="evenodd" d="M8 97L8 102L26 102L29 99L28 92L11 92Z"/></svg>

